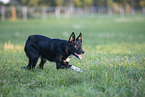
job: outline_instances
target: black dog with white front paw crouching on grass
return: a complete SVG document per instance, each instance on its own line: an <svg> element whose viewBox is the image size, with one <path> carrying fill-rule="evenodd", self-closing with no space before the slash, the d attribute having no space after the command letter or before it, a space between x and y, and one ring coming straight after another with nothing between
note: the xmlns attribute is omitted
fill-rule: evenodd
<svg viewBox="0 0 145 97"><path fill-rule="evenodd" d="M71 55L82 59L81 54L84 54L82 49L82 34L75 38L75 33L72 32L69 40L51 39L42 35L31 35L28 37L25 44L25 53L29 58L27 68L33 69L41 58L39 68L43 69L46 60L56 62L57 69L75 69L82 72L80 68L69 65Z"/></svg>

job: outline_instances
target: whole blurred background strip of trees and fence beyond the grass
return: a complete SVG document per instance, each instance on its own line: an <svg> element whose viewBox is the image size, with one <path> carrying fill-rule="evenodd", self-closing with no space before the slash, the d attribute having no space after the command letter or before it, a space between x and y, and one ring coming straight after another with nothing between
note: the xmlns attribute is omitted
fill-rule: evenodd
<svg viewBox="0 0 145 97"><path fill-rule="evenodd" d="M69 18L103 14L134 16L137 13L145 15L145 0L10 0L5 5L0 2L2 21L6 18L16 20L17 17L23 17L23 20L31 17L46 19L48 15Z"/></svg>

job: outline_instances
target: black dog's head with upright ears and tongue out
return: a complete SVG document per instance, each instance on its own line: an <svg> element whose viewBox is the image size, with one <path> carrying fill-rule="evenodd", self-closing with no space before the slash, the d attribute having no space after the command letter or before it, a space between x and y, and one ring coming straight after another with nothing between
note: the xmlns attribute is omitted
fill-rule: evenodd
<svg viewBox="0 0 145 97"><path fill-rule="evenodd" d="M75 38L75 33L72 32L69 38L68 50L70 54L76 56L78 59L82 59L82 54L85 53L82 49L82 33Z"/></svg>

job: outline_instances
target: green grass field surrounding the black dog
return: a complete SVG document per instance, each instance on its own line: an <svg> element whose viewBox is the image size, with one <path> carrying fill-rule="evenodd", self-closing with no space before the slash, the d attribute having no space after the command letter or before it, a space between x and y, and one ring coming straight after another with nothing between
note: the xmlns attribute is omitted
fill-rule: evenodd
<svg viewBox="0 0 145 97"><path fill-rule="evenodd" d="M31 34L68 39L83 33L83 70L21 70L28 59L23 47ZM0 22L1 97L144 97L145 17L97 17Z"/></svg>

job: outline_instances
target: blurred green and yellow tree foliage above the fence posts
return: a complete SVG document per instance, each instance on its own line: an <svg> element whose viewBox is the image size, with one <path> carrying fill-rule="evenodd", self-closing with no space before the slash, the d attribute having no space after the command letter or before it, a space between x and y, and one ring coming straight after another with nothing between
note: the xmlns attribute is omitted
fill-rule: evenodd
<svg viewBox="0 0 145 97"><path fill-rule="evenodd" d="M145 0L11 0L10 4L20 4L30 7L37 6L67 6L67 7L145 7Z"/></svg>

